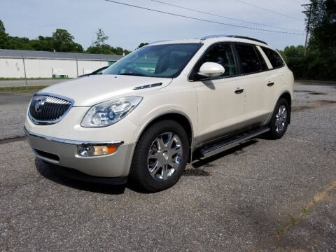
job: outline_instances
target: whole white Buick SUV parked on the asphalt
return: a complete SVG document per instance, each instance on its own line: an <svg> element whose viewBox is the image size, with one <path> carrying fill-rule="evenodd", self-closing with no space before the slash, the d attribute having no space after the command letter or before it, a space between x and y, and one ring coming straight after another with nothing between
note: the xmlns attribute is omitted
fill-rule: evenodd
<svg viewBox="0 0 336 252"><path fill-rule="evenodd" d="M147 191L176 183L187 162L290 123L293 73L267 43L241 36L161 41L104 74L47 87L25 131L38 158L85 181ZM64 168L66 167L66 168Z"/></svg>

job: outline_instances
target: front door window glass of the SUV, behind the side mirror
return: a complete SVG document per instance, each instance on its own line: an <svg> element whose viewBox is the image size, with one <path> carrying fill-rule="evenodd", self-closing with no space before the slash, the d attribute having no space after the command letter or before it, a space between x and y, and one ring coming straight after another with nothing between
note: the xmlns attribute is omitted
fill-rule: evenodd
<svg viewBox="0 0 336 252"><path fill-rule="evenodd" d="M237 65L235 62L235 56L232 52L230 44L228 43L220 43L212 46L202 57L200 62L197 63L197 66L195 68L196 73L200 71L200 67L205 62L214 62L221 64L225 69L225 73L221 77L237 75ZM197 76L197 78L201 79L208 77Z"/></svg>

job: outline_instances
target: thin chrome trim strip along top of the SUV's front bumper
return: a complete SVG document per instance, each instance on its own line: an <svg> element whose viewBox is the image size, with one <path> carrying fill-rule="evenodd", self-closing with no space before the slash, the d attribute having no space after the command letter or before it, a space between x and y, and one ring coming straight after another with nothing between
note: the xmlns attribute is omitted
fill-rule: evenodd
<svg viewBox="0 0 336 252"><path fill-rule="evenodd" d="M76 146L81 146L81 145L86 145L86 146L111 146L111 145L120 146L120 145L124 144L124 141L106 141L106 142L97 141L97 142L95 142L95 141L77 141L77 140L69 140L69 139L60 139L60 138L57 138L57 137L48 137L48 136L44 136L44 135L41 135L41 134L33 133L33 132L27 130L27 128L25 126L23 128L25 130L25 133L29 136L38 137L38 138L45 139L45 140L48 140L48 141L55 141L55 142L61 143L61 144L72 144L72 145L76 145Z"/></svg>

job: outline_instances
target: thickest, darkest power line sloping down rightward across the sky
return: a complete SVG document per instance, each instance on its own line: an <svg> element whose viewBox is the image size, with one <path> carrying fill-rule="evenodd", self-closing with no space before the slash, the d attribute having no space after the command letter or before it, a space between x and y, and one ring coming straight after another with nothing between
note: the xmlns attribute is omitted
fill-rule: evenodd
<svg viewBox="0 0 336 252"><path fill-rule="evenodd" d="M174 15L176 17L188 18L188 19L191 19L191 20L198 20L198 21L203 21L203 22L210 22L210 23L214 23L214 24L217 24L217 25L227 25L227 26L232 26L232 27L239 27L239 28L244 28L244 29L253 29L253 30L256 30L256 31L268 31L268 32L274 32L274 33L280 33L280 34L304 35L304 34L296 33L296 32L275 31L275 30L270 30L270 29L259 29L259 28L254 28L254 27L245 27L243 25L232 25L232 24L227 24L227 23L223 23L223 22L216 22L216 21L211 21L211 20L205 20L205 19L202 19L202 18L193 18L193 17L189 17L189 16L186 16L186 15L179 15L179 14L176 14L176 13L169 13L167 11L155 10L153 8L146 8L146 7L141 7L141 6L135 6L135 5L132 5L132 4L129 4L129 3L123 3L123 2L120 2L120 1L112 1L112 0L105 0L105 1L109 1L111 3L118 3L118 4L121 4L121 5L124 5L124 6L130 6L130 7L134 7L134 8L140 8L140 9L143 9L143 10L151 10L151 11L155 11L157 13L164 13L164 14L167 14L167 15Z"/></svg>

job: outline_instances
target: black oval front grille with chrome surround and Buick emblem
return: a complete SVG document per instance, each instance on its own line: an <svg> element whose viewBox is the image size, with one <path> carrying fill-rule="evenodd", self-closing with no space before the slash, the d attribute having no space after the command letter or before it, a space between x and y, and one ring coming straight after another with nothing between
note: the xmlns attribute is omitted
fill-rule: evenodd
<svg viewBox="0 0 336 252"><path fill-rule="evenodd" d="M36 124L59 122L71 109L73 101L46 94L35 94L29 106L29 118Z"/></svg>

